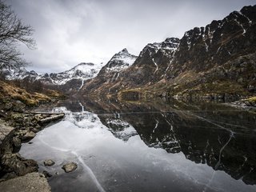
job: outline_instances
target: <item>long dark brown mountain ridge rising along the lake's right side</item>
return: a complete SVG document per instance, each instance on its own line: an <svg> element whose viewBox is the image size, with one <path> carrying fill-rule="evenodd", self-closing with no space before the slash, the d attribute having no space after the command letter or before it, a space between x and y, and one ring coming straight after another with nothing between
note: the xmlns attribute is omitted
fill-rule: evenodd
<svg viewBox="0 0 256 192"><path fill-rule="evenodd" d="M242 98L256 93L256 6L144 47L134 64L83 86L90 97ZM100 81L99 81L100 79ZM114 79L114 82L112 81Z"/></svg>

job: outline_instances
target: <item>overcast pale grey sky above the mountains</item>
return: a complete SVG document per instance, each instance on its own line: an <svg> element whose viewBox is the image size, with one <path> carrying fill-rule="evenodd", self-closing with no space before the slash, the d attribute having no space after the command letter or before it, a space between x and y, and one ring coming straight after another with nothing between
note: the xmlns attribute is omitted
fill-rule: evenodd
<svg viewBox="0 0 256 192"><path fill-rule="evenodd" d="M80 62L104 65L120 50L182 38L256 0L6 0L34 28L35 50L19 46L28 70L70 70ZM102 64L101 64L102 63Z"/></svg>

